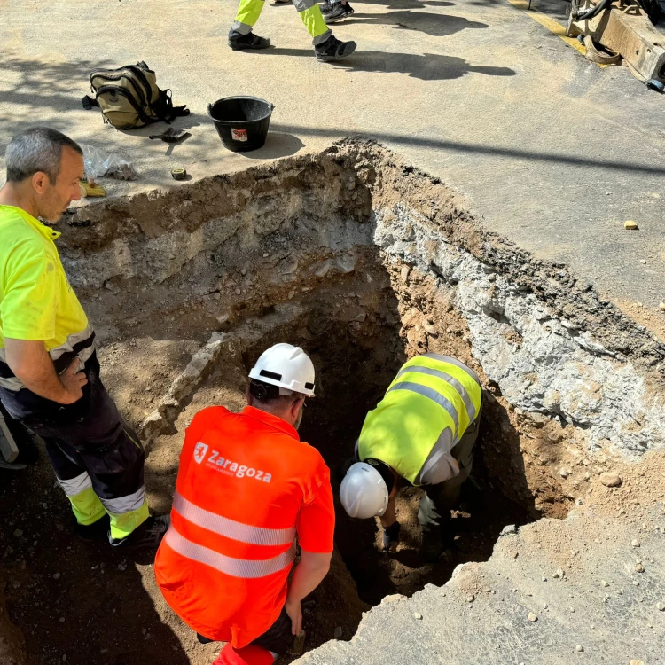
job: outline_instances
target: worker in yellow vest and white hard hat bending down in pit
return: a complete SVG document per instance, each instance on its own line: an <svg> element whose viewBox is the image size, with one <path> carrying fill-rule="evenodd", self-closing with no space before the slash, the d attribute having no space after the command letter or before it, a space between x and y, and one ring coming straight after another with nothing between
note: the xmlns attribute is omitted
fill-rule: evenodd
<svg viewBox="0 0 665 665"><path fill-rule="evenodd" d="M428 353L404 364L367 414L340 500L351 517L380 517L384 552L399 541L395 495L403 481L425 489L423 541L428 552L442 551L450 510L471 473L481 411L478 375L455 358Z"/></svg>

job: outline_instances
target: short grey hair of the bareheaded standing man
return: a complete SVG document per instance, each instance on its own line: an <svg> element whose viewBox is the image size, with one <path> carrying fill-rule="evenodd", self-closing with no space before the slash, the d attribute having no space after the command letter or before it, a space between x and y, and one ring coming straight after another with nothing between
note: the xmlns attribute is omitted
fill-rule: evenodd
<svg viewBox="0 0 665 665"><path fill-rule="evenodd" d="M4 160L7 165L7 182L20 183L42 171L55 184L62 158L63 147L83 154L82 148L57 129L34 127L17 134L7 145Z"/></svg>

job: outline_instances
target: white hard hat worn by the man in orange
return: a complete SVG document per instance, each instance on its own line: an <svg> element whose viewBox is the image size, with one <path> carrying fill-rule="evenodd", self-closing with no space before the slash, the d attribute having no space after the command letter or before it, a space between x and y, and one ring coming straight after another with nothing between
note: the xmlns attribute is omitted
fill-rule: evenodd
<svg viewBox="0 0 665 665"><path fill-rule="evenodd" d="M249 378L294 393L314 396L314 364L300 347L293 344L275 344L263 351L249 372ZM288 395L282 390L279 392Z"/></svg>

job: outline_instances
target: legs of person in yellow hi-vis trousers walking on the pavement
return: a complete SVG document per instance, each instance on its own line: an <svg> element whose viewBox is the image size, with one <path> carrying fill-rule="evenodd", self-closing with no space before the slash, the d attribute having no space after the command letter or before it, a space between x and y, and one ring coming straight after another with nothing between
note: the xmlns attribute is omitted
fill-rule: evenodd
<svg viewBox="0 0 665 665"><path fill-rule="evenodd" d="M263 9L265 0L240 0L236 20L229 30L229 46L233 51L267 49L270 39L254 35L252 27ZM312 38L314 55L321 62L335 62L348 58L356 51L356 42L340 42L326 25L317 0L293 0L301 20Z"/></svg>

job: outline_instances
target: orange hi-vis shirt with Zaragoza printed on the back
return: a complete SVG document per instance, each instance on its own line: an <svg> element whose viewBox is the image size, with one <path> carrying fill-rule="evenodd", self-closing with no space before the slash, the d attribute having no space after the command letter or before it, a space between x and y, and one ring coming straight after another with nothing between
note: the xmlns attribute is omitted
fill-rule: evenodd
<svg viewBox="0 0 665 665"><path fill-rule="evenodd" d="M187 428L157 583L193 630L241 648L284 606L296 534L304 550L332 552L333 530L318 450L277 416L211 407Z"/></svg>

